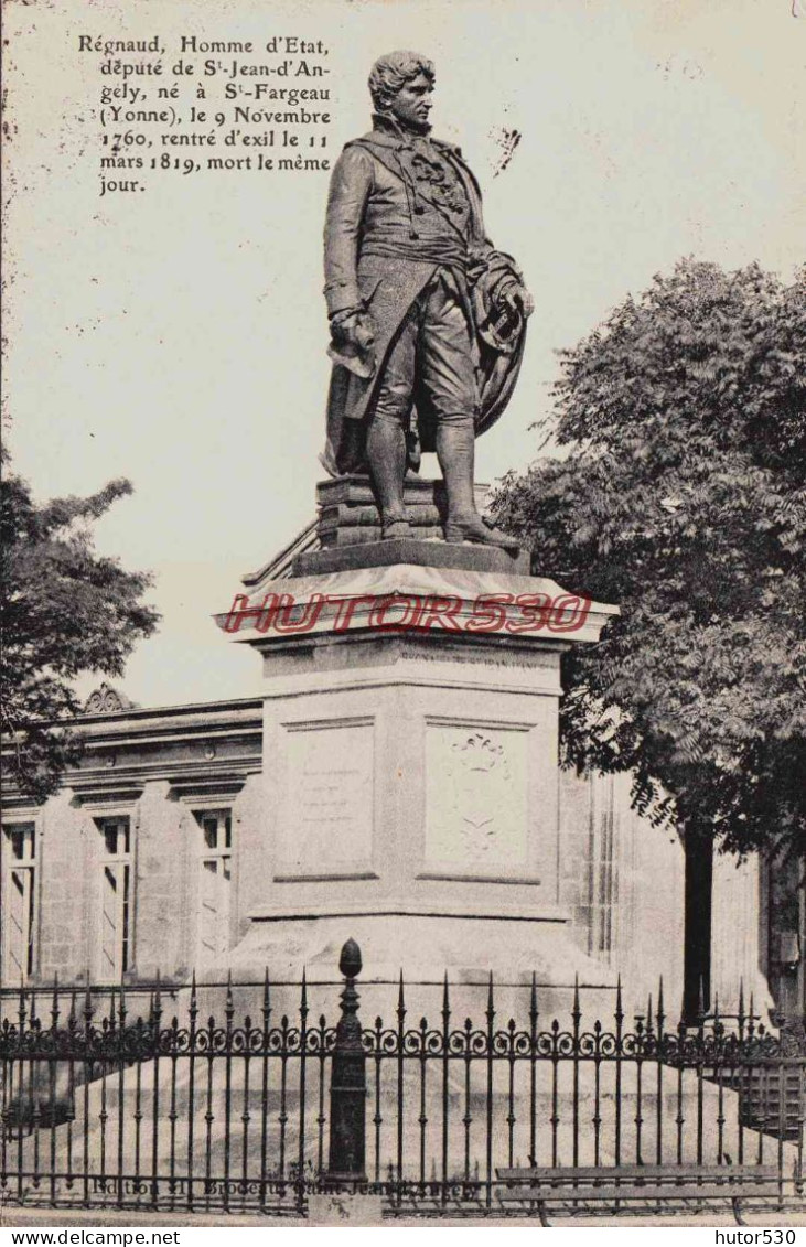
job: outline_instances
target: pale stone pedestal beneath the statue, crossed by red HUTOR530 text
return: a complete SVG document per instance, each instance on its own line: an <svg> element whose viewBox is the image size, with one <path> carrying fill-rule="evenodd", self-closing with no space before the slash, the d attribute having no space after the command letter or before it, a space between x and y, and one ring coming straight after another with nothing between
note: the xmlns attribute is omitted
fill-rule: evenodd
<svg viewBox="0 0 806 1247"><path fill-rule="evenodd" d="M443 541L334 542L289 571L217 617L265 676L267 816L242 845L233 975L333 980L353 936L364 995L401 970L534 973L558 1010L576 975L606 988L558 904L558 702L560 655L615 609L525 555Z"/></svg>

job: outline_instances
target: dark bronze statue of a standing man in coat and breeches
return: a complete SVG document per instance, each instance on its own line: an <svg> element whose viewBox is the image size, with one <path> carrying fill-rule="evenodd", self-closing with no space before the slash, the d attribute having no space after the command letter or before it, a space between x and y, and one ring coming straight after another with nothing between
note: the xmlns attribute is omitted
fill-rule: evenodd
<svg viewBox="0 0 806 1247"><path fill-rule="evenodd" d="M474 441L515 384L532 297L484 233L478 183L458 147L430 137L434 67L391 52L369 75L373 128L333 170L324 294L333 375L333 475L369 470L384 539L413 535L407 468L435 450L447 541L507 547L473 495Z"/></svg>

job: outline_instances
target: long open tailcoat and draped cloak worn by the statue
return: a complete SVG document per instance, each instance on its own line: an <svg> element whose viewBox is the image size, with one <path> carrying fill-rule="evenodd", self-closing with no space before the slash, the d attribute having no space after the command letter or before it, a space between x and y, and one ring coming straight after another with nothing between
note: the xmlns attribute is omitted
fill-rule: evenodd
<svg viewBox="0 0 806 1247"><path fill-rule="evenodd" d="M356 471L363 466L367 416L383 377L386 359L412 303L435 269L455 273L478 350L479 410L477 434L488 429L504 410L514 388L525 337L525 324L517 318L507 340L499 339L494 319L494 292L499 282L520 281L509 256L494 251L484 233L482 196L473 173L457 147L432 140L459 177L469 202L467 267L450 262L428 246L427 238L412 242L418 224L412 213L410 178L407 185L403 148L397 132L373 130L348 143L337 161L324 229L324 293L328 313L363 306L373 323L376 368L371 377L358 377L334 364L328 395L327 448L323 464L329 473ZM418 185L414 196L437 206L428 183ZM417 211L417 209L415 209ZM364 239L386 239L393 254L367 254ZM396 243L401 253L396 252ZM424 395L414 393L417 428L423 450L434 448L434 428Z"/></svg>

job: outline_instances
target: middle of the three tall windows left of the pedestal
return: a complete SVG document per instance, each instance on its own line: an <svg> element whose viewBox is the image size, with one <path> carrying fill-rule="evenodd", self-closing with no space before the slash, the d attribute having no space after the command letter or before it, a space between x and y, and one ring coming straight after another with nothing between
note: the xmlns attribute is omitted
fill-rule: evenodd
<svg viewBox="0 0 806 1247"><path fill-rule="evenodd" d="M120 983L132 961L132 860L129 818L100 818L99 981Z"/></svg>

